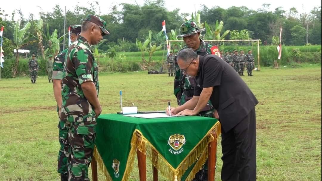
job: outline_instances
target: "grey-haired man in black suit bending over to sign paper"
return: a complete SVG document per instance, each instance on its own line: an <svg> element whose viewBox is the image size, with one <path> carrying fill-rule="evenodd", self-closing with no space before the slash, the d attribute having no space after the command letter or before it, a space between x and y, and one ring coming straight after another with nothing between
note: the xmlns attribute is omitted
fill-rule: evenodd
<svg viewBox="0 0 322 181"><path fill-rule="evenodd" d="M256 180L256 97L236 71L215 55L181 50L178 65L196 80L194 96L171 114L196 115L210 100L222 125L223 181ZM169 114L169 110L166 110Z"/></svg>

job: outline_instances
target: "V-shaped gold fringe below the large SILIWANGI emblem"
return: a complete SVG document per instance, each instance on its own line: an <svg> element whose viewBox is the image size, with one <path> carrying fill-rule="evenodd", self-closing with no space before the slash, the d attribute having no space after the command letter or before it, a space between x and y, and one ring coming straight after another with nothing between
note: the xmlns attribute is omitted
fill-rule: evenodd
<svg viewBox="0 0 322 181"><path fill-rule="evenodd" d="M213 137L213 132L215 132L215 137ZM198 144L190 151L190 153L185 157L185 159L179 164L175 169L173 168L167 160L155 149L155 147L143 136L141 131L135 130L131 140L131 147L137 148L143 154L151 160L154 167L161 172L169 180L180 180L181 176L198 158L200 158L196 165L194 166L192 172L196 174L201 167L204 165L205 160L208 158L208 144L217 139L218 135L221 133L220 122L216 122L213 127L207 132L203 139L199 141ZM191 174L189 174L190 176Z"/></svg>

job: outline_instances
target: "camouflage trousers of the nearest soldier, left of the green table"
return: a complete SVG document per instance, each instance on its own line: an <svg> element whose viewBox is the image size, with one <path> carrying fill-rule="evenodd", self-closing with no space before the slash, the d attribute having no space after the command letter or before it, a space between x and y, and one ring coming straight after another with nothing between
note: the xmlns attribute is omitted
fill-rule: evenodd
<svg viewBox="0 0 322 181"><path fill-rule="evenodd" d="M96 120L66 122L70 154L68 181L89 181L88 167L92 161L96 137Z"/></svg>

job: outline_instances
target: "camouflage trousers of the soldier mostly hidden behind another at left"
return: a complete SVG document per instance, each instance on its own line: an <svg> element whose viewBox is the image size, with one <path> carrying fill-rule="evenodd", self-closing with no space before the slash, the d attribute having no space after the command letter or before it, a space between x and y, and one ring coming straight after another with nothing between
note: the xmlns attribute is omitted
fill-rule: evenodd
<svg viewBox="0 0 322 181"><path fill-rule="evenodd" d="M59 121L59 144L58 152L58 173L68 174L68 157L71 150L69 150L68 129L65 121Z"/></svg>

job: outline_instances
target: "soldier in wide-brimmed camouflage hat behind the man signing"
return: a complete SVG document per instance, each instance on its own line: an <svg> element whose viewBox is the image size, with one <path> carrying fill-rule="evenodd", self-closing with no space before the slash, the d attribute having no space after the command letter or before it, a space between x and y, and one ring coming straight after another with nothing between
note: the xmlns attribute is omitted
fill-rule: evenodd
<svg viewBox="0 0 322 181"><path fill-rule="evenodd" d="M194 21L187 21L181 25L180 35L177 37L182 37L185 41L186 47L184 47L183 49L191 48L200 56L215 54L215 52L211 50L212 46L208 43L205 43L199 38L200 32L202 31L204 31L204 29L200 29ZM177 97L178 105L183 105L193 97L194 86L196 85L196 83L193 77L184 74L180 70L176 59L175 71L174 94ZM213 105L210 101L208 101L205 108L197 115L213 117L213 112ZM195 175L194 181L207 180L207 164L205 165L206 167L204 167Z"/></svg>

